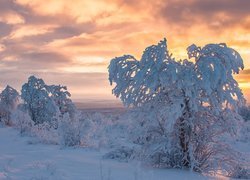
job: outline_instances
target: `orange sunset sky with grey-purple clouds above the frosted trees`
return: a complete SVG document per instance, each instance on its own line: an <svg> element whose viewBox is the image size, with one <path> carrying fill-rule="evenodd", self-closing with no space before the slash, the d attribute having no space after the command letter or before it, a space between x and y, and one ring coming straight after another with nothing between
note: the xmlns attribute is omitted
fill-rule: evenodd
<svg viewBox="0 0 250 180"><path fill-rule="evenodd" d="M250 99L249 0L0 0L0 89L36 75L68 86L72 98L112 99L107 66L167 38L177 59L195 43L226 43L245 70Z"/></svg>

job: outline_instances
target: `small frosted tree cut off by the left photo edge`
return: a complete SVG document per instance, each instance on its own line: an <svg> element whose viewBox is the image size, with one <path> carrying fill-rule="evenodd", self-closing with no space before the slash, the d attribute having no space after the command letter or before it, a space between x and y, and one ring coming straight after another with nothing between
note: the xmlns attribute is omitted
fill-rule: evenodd
<svg viewBox="0 0 250 180"><path fill-rule="evenodd" d="M11 112L15 110L18 102L18 92L14 88L7 85L0 94L0 119L4 119L4 121L8 124Z"/></svg>

